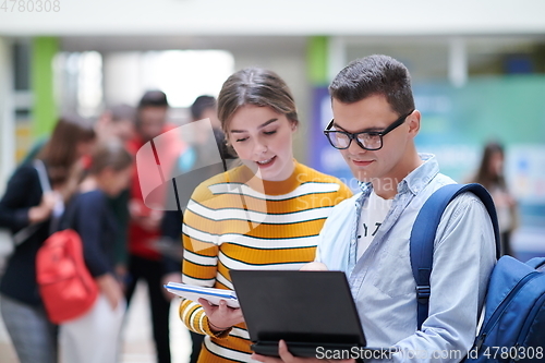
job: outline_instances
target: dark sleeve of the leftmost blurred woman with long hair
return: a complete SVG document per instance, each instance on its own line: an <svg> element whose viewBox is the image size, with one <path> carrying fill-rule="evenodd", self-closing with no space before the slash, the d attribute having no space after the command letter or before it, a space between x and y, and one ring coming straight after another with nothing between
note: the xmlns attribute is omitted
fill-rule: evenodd
<svg viewBox="0 0 545 363"><path fill-rule="evenodd" d="M27 227L28 209L39 205L41 198L38 174L33 167L20 167L11 177L0 201L0 227L13 233Z"/></svg>

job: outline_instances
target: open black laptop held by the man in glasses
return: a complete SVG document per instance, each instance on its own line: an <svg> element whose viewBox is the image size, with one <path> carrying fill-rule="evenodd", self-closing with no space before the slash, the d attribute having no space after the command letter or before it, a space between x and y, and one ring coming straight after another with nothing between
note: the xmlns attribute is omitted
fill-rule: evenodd
<svg viewBox="0 0 545 363"><path fill-rule="evenodd" d="M280 339L296 356L376 350L366 348L344 273L230 270L230 276L254 352L278 356Z"/></svg>

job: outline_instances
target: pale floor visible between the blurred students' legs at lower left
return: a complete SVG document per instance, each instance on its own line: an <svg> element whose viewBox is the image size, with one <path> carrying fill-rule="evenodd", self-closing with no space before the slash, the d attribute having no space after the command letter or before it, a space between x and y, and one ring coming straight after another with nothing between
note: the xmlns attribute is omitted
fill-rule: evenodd
<svg viewBox="0 0 545 363"><path fill-rule="evenodd" d="M177 299L178 300L178 299ZM126 326L120 363L155 363L155 349L152 340L152 326L147 291L144 285L137 287ZM170 347L173 363L185 363L191 353L190 334L178 317L178 301L171 305ZM17 363L9 336L0 320L0 362ZM76 362L70 362L76 363Z"/></svg>

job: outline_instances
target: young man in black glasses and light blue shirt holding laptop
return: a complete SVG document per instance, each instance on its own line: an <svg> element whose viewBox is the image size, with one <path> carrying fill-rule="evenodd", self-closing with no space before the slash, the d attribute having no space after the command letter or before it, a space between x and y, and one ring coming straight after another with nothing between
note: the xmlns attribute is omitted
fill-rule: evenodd
<svg viewBox="0 0 545 363"><path fill-rule="evenodd" d="M453 181L439 173L433 155L416 152L421 113L403 64L386 56L355 60L329 92L335 118L325 133L362 193L334 208L316 261L347 274L367 344L399 350L380 362L459 362L473 344L496 261L491 218L471 193L445 210L435 239L429 314L417 330L411 229L432 193ZM280 355L284 362L301 360L284 343Z"/></svg>

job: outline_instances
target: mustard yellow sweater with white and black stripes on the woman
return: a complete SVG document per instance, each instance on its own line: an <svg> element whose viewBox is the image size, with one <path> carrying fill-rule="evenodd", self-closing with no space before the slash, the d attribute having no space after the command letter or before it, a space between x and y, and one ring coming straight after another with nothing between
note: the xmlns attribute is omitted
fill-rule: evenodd
<svg viewBox="0 0 545 363"><path fill-rule="evenodd" d="M314 261L316 239L331 207L352 193L337 178L295 162L281 182L242 166L202 183L184 215L183 282L232 289L230 269L299 269ZM183 300L180 316L207 335L199 362L249 362L244 324L215 336L203 307Z"/></svg>

